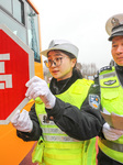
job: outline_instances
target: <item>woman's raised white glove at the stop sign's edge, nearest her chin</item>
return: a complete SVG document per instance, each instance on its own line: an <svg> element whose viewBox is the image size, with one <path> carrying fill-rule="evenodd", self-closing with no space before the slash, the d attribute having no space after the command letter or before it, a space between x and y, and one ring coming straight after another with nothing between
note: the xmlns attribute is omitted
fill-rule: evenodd
<svg viewBox="0 0 123 165"><path fill-rule="evenodd" d="M29 87L25 94L29 99L40 97L46 108L52 109L55 106L56 97L51 92L45 80L34 76L25 86Z"/></svg>

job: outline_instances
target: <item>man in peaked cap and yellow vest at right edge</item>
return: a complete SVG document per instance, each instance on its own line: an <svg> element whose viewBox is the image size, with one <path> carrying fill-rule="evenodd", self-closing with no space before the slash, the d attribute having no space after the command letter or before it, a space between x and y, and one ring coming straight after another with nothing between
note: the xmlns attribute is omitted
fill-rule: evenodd
<svg viewBox="0 0 123 165"><path fill-rule="evenodd" d="M99 75L101 106L110 113L123 114L123 14L111 16L105 24L109 41L112 42L112 57L115 67L108 68ZM99 139L99 165L123 164L123 131L103 125L107 140Z"/></svg>

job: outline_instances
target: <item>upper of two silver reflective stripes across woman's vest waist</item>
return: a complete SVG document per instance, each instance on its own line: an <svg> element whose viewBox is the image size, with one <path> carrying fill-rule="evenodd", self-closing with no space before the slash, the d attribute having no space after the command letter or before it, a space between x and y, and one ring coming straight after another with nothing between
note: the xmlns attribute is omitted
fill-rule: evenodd
<svg viewBox="0 0 123 165"><path fill-rule="evenodd" d="M66 134L58 128L42 128L43 132L45 133L57 133L57 134Z"/></svg>

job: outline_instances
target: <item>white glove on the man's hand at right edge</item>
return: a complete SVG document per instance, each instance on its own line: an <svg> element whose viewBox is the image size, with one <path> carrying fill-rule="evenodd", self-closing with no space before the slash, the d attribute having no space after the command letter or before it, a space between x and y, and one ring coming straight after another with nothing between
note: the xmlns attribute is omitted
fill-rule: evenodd
<svg viewBox="0 0 123 165"><path fill-rule="evenodd" d="M108 123L103 124L102 132L109 141L115 141L123 135L123 130L113 129Z"/></svg>

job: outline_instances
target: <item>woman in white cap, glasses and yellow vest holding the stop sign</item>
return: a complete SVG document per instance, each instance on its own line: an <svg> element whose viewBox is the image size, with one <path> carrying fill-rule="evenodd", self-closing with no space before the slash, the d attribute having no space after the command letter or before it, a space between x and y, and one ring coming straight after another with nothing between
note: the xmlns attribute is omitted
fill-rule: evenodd
<svg viewBox="0 0 123 165"><path fill-rule="evenodd" d="M76 69L78 48L69 42L57 40L52 41L48 50L42 52L47 56L46 66L53 76L47 84L38 78L33 77L26 82L29 87L25 96L35 99L35 105L30 113L25 110L18 111L11 120L18 130L18 136L24 141L36 141L38 143L33 153L33 162L45 165L94 165L96 164L96 139L102 127L102 118L99 111L87 110L81 112L81 121L77 123L83 125L85 130L80 133L83 140L77 141L68 136L54 123L58 113L69 111L70 106L80 109L85 101L88 90L92 85L91 80L82 79L80 72ZM56 117L47 117L46 111L57 109L59 112ZM76 110L70 109L75 118ZM70 117L67 118L71 118ZM59 118L59 123L63 122ZM69 123L64 122L69 131ZM66 131L66 132L67 132ZM76 131L75 131L76 132Z"/></svg>

